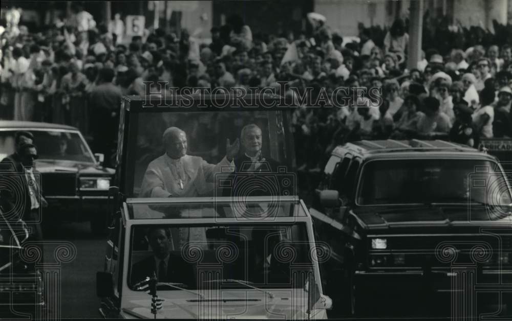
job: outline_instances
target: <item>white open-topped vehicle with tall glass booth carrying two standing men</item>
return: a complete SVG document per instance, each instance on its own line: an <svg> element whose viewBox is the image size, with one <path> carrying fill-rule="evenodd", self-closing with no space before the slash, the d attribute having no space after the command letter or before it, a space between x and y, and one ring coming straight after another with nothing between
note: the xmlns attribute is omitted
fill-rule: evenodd
<svg viewBox="0 0 512 321"><path fill-rule="evenodd" d="M103 317L327 317L289 116L272 95L123 98Z"/></svg>

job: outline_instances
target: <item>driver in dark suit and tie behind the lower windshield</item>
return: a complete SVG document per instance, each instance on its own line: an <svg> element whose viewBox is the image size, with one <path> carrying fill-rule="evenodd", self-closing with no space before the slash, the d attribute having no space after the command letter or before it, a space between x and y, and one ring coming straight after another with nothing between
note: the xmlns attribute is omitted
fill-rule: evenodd
<svg viewBox="0 0 512 321"><path fill-rule="evenodd" d="M134 285L146 277L156 274L158 282L183 283L189 287L195 285L194 270L180 256L170 254L172 234L170 228L152 227L147 233L153 256L135 263L130 276Z"/></svg>

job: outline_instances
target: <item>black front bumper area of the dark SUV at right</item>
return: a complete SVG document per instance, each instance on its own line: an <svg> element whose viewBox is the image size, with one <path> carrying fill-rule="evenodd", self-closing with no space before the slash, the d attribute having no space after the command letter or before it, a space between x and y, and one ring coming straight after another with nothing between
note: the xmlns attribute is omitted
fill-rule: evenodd
<svg viewBox="0 0 512 321"><path fill-rule="evenodd" d="M356 271L354 289L359 311L448 317L512 310L512 270ZM505 307L498 307L500 303Z"/></svg>

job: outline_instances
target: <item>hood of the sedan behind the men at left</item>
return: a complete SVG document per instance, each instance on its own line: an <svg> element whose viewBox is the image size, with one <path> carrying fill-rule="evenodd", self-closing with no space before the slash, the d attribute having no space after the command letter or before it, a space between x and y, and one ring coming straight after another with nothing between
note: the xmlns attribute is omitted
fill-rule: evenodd
<svg viewBox="0 0 512 321"><path fill-rule="evenodd" d="M93 163L80 163L73 161L58 161L58 160L38 160L35 166L40 173L85 173L85 174L109 174L113 175L114 170L105 168Z"/></svg>

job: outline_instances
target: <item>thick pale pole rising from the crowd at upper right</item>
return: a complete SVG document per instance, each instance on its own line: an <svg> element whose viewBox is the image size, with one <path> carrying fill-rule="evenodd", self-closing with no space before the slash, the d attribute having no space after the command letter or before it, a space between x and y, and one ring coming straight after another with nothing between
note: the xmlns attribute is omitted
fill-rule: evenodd
<svg viewBox="0 0 512 321"><path fill-rule="evenodd" d="M423 0L411 1L409 17L409 47L407 68L416 68L421 59L421 36L423 32Z"/></svg>

